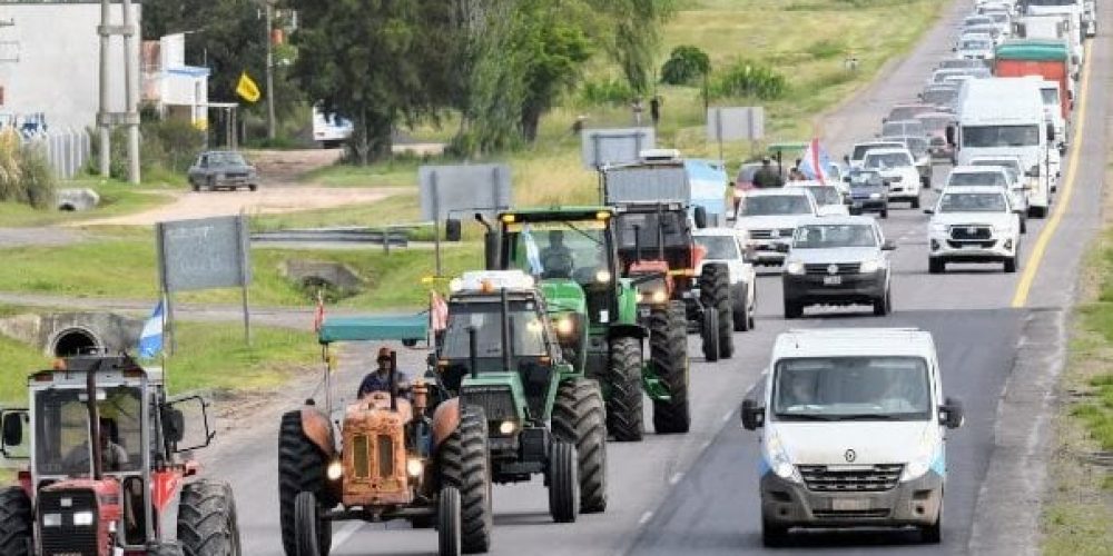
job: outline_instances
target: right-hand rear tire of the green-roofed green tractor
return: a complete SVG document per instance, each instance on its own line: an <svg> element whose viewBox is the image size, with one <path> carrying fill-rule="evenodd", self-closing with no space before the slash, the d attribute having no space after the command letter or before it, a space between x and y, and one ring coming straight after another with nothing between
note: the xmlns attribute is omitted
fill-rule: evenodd
<svg viewBox="0 0 1113 556"><path fill-rule="evenodd" d="M691 413L688 407L688 330L682 301L671 301L650 312L649 351L658 378L664 383L671 398L653 400L653 430L659 435L687 433L691 427Z"/></svg>

